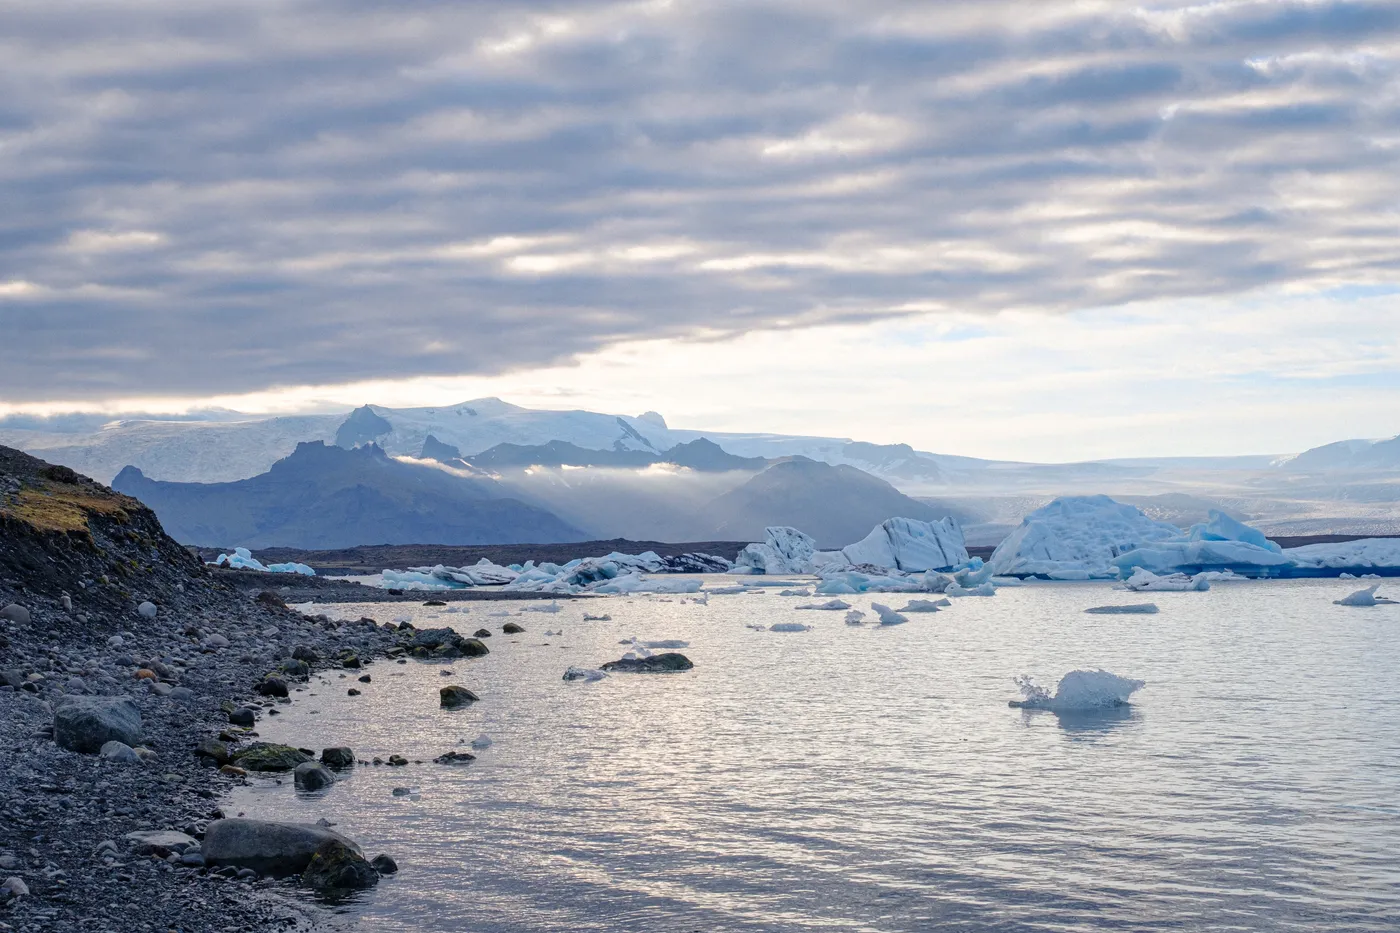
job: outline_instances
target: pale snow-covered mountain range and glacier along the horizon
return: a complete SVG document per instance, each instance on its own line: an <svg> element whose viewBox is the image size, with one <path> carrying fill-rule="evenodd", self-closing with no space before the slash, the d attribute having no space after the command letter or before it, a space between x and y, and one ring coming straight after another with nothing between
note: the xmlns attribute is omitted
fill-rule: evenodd
<svg viewBox="0 0 1400 933"><path fill-rule="evenodd" d="M137 468L146 482L249 481L305 441L346 448L372 443L388 459L435 461L458 478L494 482L493 497L515 499L603 537L678 539L710 537L720 527L752 528L757 520L725 509L743 496L752 496L752 509L766 496L774 507L753 514L781 514L778 489L739 489L794 458L860 471L939 516L955 514L974 544L995 542L1054 496L1082 493L1142 500L1145 509L1184 524L1224 509L1271 534L1400 531L1400 438L1347 440L1282 455L1028 464L840 437L696 431L671 427L655 412L536 410L494 398L283 417L207 412L109 423L90 416L0 419L0 444L99 481L126 466ZM805 475L804 482L818 478ZM867 495L876 496L874 488Z"/></svg>

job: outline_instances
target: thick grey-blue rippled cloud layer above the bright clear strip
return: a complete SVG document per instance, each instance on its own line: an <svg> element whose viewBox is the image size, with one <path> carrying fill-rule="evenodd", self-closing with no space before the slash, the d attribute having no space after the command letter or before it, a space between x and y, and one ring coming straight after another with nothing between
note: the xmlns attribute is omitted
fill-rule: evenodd
<svg viewBox="0 0 1400 933"><path fill-rule="evenodd" d="M1400 265L1390 3L20 0L6 21L11 402L491 377Z"/></svg>

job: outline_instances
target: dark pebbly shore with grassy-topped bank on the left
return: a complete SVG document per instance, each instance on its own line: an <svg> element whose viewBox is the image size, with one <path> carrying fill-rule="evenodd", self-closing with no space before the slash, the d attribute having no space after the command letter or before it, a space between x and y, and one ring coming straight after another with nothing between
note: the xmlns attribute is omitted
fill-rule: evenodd
<svg viewBox="0 0 1400 933"><path fill-rule="evenodd" d="M235 586L139 502L0 448L0 932L314 926L294 880L204 864L242 779L220 749L256 742L311 671L363 675L410 635Z"/></svg>

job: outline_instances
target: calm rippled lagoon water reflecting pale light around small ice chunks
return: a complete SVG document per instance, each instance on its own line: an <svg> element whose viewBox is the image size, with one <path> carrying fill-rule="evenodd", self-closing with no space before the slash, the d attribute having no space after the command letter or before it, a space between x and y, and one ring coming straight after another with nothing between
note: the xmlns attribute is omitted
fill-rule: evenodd
<svg viewBox="0 0 1400 933"><path fill-rule="evenodd" d="M497 635L451 678L381 663L370 685L314 681L265 737L361 758L496 744L232 807L325 815L393 855L402 871L342 908L375 932L1396 930L1400 607L1331 605L1355 588L1043 584L895 628L776 591L631 597L512 615L522 636L491 614L539 604L337 607ZM1162 612L1084 614L1144 598ZM745 628L794 619L816 628ZM689 640L696 670L561 681L633 635ZM1148 686L1121 714L1007 706L1014 675L1077 667ZM444 684L483 699L440 710Z"/></svg>

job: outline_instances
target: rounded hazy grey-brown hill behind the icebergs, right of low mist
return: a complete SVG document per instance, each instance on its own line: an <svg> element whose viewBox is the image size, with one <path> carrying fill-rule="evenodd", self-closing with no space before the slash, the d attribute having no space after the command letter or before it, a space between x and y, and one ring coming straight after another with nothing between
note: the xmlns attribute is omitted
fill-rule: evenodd
<svg viewBox="0 0 1400 933"><path fill-rule="evenodd" d="M942 518L883 479L805 457L784 459L701 510L692 537L762 541L767 525L792 525L823 548L860 541L886 518Z"/></svg>

